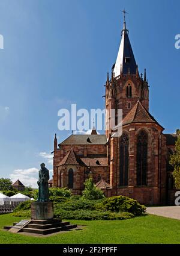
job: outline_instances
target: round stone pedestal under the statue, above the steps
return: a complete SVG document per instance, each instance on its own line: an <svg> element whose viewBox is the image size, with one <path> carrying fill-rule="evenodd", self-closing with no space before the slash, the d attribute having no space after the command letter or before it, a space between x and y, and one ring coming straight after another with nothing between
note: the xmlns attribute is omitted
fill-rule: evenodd
<svg viewBox="0 0 180 256"><path fill-rule="evenodd" d="M31 219L34 220L52 220L53 202L32 202Z"/></svg>

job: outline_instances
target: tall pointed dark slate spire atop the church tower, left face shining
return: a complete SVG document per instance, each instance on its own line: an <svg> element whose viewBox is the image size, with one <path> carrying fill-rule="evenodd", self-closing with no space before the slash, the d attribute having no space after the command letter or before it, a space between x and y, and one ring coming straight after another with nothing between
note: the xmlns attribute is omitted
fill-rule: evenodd
<svg viewBox="0 0 180 256"><path fill-rule="evenodd" d="M122 38L119 46L118 57L114 67L115 77L120 75L121 70L123 74L127 74L128 69L130 69L130 73L135 74L137 69L136 60L128 37L128 30L125 27L125 21L121 35Z"/></svg>

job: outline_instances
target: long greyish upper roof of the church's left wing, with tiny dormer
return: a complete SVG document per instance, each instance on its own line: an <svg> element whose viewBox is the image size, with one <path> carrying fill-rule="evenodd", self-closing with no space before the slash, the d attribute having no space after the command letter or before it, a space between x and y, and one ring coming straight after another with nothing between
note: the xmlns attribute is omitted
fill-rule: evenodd
<svg viewBox="0 0 180 256"><path fill-rule="evenodd" d="M61 145L106 145L105 134L72 134L70 137L59 143Z"/></svg>

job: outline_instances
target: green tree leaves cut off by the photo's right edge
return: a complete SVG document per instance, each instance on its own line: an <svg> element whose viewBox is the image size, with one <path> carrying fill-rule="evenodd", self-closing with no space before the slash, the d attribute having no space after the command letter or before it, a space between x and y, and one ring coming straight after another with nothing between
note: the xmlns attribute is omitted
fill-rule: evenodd
<svg viewBox="0 0 180 256"><path fill-rule="evenodd" d="M175 152L170 156L170 164L174 167L173 178L175 179L176 189L180 188L180 130L176 130L178 140L176 141Z"/></svg>

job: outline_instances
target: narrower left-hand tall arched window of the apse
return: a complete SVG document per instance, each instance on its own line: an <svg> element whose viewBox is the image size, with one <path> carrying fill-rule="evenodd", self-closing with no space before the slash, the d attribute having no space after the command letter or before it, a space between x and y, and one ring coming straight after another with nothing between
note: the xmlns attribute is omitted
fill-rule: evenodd
<svg viewBox="0 0 180 256"><path fill-rule="evenodd" d="M120 175L119 186L128 186L128 166L129 166L129 137L123 133L120 139Z"/></svg>

